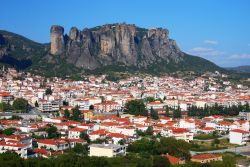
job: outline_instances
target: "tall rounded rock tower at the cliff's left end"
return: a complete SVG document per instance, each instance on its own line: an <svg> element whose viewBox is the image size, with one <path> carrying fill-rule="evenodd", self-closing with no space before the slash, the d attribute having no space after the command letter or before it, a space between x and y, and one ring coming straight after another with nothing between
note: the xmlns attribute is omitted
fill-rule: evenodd
<svg viewBox="0 0 250 167"><path fill-rule="evenodd" d="M50 53L52 55L60 55L64 51L64 28L62 26L53 25L50 28Z"/></svg>

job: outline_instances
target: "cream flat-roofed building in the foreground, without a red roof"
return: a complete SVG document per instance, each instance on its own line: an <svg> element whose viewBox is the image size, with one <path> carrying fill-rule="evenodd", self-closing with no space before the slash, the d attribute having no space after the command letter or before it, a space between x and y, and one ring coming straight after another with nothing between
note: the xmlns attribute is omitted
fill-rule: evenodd
<svg viewBox="0 0 250 167"><path fill-rule="evenodd" d="M116 144L91 144L89 156L116 157L126 155L126 146Z"/></svg>

